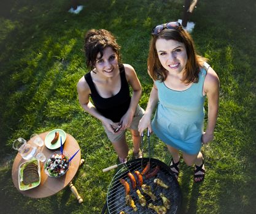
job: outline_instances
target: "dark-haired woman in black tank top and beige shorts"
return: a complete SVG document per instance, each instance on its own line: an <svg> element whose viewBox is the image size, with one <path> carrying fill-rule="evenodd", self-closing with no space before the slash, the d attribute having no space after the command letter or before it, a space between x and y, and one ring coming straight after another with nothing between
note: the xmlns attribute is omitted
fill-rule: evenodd
<svg viewBox="0 0 256 214"><path fill-rule="evenodd" d="M133 137L134 157L139 157L138 122L144 110L138 106L142 89L134 68L119 64L120 46L109 31L88 31L84 48L91 71L82 76L77 84L80 105L87 113L101 120L120 162L126 161L128 155L127 128L130 128Z"/></svg>

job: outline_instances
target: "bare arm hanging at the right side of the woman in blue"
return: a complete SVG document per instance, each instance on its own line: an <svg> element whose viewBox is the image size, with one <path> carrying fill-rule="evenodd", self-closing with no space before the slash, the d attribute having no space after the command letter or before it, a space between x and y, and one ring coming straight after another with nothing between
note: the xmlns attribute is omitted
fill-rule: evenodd
<svg viewBox="0 0 256 214"><path fill-rule="evenodd" d="M208 124L202 136L202 142L206 144L214 138L214 128L219 111L219 78L210 67L204 80L204 92L208 98Z"/></svg>

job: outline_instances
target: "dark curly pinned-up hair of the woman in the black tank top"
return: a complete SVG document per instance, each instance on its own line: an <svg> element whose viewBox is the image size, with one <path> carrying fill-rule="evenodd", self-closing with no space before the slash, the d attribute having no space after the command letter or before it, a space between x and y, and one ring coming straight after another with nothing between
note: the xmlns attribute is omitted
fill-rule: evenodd
<svg viewBox="0 0 256 214"><path fill-rule="evenodd" d="M105 48L111 47L117 55L118 62L121 61L120 45L117 44L114 35L105 29L90 29L85 34L84 50L87 67L93 69L96 63L97 54L103 57Z"/></svg>

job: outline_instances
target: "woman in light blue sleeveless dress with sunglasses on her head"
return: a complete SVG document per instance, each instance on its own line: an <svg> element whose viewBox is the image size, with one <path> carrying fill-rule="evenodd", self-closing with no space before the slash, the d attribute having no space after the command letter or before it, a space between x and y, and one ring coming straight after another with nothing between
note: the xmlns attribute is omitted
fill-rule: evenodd
<svg viewBox="0 0 256 214"><path fill-rule="evenodd" d="M219 78L196 54L193 40L171 21L152 30L148 72L153 87L139 132L153 131L172 155L170 168L179 175L179 151L188 166L195 164L194 180L204 179L201 145L212 141L219 109ZM204 131L204 100L208 98L208 124ZM157 106L151 123L153 109Z"/></svg>

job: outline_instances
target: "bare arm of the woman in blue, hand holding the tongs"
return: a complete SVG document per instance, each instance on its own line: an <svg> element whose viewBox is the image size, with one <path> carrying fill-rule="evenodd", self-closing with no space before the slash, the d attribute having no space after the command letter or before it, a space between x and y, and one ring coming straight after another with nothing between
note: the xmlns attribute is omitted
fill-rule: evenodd
<svg viewBox="0 0 256 214"><path fill-rule="evenodd" d="M139 135L142 135L142 132L145 128L149 128L150 133L152 132L151 127L151 116L153 114L153 109L157 106L158 103L158 90L155 83L150 92L149 102L147 103L147 108L145 109L145 114L142 119L139 121Z"/></svg>

